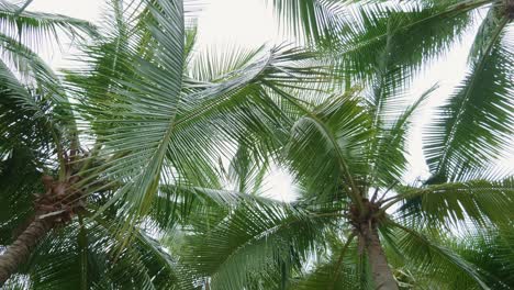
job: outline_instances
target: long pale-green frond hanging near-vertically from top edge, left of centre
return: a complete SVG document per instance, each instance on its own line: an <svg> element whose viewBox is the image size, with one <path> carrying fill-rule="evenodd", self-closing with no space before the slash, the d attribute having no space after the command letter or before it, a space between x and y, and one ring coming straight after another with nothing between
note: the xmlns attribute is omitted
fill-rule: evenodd
<svg viewBox="0 0 514 290"><path fill-rule="evenodd" d="M127 83L131 91L123 93L126 98L125 102L118 103L115 108L110 109L112 114L121 115L123 112L125 120L116 119L118 124L122 123L124 126L119 125L115 131L111 126L104 129L103 132L97 132L100 133L99 141L104 142L104 145L114 154L132 152L125 158L118 159L118 165L126 167L131 164L131 166L120 177L128 178L130 182L125 183L116 196L131 200L135 212L145 212L149 205L149 198L157 191L170 134L175 126L183 67L181 2L158 1L157 5L150 8L150 11L158 20L158 24L149 25L149 31L156 40L160 41L160 46L155 54L159 65L139 59L137 71L144 78ZM170 34L174 36L168 37ZM156 81L159 85L156 85ZM163 104L160 109L154 105L159 102ZM111 104L107 103L107 105ZM104 121L107 120L103 118L96 123ZM114 120L111 122L116 124ZM137 144L139 147L135 147L134 140L143 141L144 144L139 143ZM126 163L127 160L130 163ZM122 167L111 167L110 175L120 174Z"/></svg>

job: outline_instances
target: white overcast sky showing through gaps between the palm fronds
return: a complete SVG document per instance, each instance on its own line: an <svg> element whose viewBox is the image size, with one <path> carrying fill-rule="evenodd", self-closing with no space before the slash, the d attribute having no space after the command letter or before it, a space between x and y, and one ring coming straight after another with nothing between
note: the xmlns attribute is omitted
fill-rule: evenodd
<svg viewBox="0 0 514 290"><path fill-rule="evenodd" d="M12 1L16 2L16 1ZM18 1L20 2L20 1ZM264 43L280 44L284 42L279 36L277 20L272 11L266 7L265 0L203 0L208 4L198 12L198 43L200 47L210 45L236 44L247 47L258 47ZM60 13L74 18L85 19L99 23L104 0L34 0L29 10ZM466 62L469 47L472 43L477 27L470 30L462 42L451 52L433 64L418 77L412 86L412 98L420 97L434 83L439 83L439 89L433 93L424 109L415 118L415 126L410 138L410 163L412 170L405 177L414 180L417 177L427 177L427 168L423 161L422 127L429 122L431 110L440 104L452 88L462 80L466 72ZM70 54L64 49L53 52L46 58L54 68L69 64ZM512 147L512 146L511 146ZM511 155L512 156L512 155ZM503 167L514 169L507 160L501 161ZM511 170L512 171L512 170ZM273 192L280 192L283 199L289 199L291 192L289 178L283 172L273 172L269 179L269 187Z"/></svg>

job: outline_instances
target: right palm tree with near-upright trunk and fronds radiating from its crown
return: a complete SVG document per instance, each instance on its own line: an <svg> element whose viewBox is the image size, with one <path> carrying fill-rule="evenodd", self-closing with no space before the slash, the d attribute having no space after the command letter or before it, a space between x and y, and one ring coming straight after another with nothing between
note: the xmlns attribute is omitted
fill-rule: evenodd
<svg viewBox="0 0 514 290"><path fill-rule="evenodd" d="M379 153L369 152L375 110L362 99L346 94L305 108L284 157L300 199L288 204L242 192L241 203L191 217L179 248L191 276L212 289L398 289L406 269L418 287L487 288L481 271L442 236L512 219L513 179L402 185L405 132L418 104L382 127ZM370 170L370 157L380 170ZM372 178L390 183L366 183Z"/></svg>

